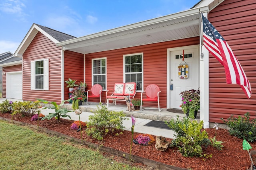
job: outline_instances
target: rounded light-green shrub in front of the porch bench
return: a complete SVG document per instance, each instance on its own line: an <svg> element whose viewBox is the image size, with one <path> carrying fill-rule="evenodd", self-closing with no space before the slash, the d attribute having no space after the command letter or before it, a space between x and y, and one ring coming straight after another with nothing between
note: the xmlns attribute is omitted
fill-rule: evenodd
<svg viewBox="0 0 256 170"><path fill-rule="evenodd" d="M107 107L102 104L97 105L97 108L98 109L94 111L94 115L89 115L86 129L87 135L101 141L108 132L114 132L115 129L124 129L122 123L128 118L125 117L123 111L109 111ZM118 133L116 133L116 135L118 135Z"/></svg>

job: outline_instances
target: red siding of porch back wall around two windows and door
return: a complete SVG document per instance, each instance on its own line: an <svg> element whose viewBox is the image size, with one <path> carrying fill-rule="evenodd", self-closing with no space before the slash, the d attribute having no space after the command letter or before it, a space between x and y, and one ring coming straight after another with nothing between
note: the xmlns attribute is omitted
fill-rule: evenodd
<svg viewBox="0 0 256 170"><path fill-rule="evenodd" d="M116 82L124 81L123 55L143 53L144 90L149 84L157 84L162 91L160 93L160 107L166 108L167 49L196 44L199 44L199 37L86 54L88 89L92 86L92 59L107 58L107 89L113 89ZM105 101L105 96L106 92L102 92L102 102ZM140 92L136 94L136 97L140 98ZM143 106L158 107L157 102L144 102Z"/></svg>

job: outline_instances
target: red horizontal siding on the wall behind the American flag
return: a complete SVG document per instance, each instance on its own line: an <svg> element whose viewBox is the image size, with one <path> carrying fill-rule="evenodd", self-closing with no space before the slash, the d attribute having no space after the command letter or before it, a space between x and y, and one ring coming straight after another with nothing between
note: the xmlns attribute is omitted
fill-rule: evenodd
<svg viewBox="0 0 256 170"><path fill-rule="evenodd" d="M224 67L209 59L210 122L250 112L256 118L256 1L225 0L208 14L208 20L228 42L252 86L250 99L239 85L226 84Z"/></svg>

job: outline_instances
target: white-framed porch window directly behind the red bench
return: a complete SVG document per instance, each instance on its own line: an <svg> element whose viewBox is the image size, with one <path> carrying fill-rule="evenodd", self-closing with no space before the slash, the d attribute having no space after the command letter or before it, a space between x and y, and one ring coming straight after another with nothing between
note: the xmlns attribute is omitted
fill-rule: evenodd
<svg viewBox="0 0 256 170"><path fill-rule="evenodd" d="M136 82L136 90L142 90L143 53L124 55L124 80Z"/></svg>

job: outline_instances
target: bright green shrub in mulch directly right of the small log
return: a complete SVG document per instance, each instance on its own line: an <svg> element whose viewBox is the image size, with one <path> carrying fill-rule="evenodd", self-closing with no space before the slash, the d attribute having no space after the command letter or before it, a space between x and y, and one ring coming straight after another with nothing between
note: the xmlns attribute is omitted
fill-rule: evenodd
<svg viewBox="0 0 256 170"><path fill-rule="evenodd" d="M198 123L196 120L190 121L186 117L184 119L177 117L176 120L172 119L166 124L176 133L171 147L177 147L185 157L204 156L202 146L208 146L209 141L207 132L202 131L203 121Z"/></svg>

